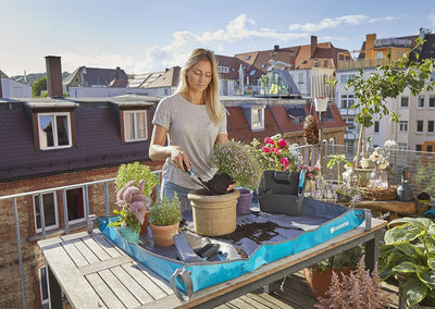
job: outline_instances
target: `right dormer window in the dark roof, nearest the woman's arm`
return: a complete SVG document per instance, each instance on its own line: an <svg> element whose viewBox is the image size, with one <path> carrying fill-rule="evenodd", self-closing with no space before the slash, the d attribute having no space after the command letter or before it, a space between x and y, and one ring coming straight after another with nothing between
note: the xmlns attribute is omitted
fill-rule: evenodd
<svg viewBox="0 0 435 309"><path fill-rule="evenodd" d="M125 141L148 139L148 111L124 111Z"/></svg>

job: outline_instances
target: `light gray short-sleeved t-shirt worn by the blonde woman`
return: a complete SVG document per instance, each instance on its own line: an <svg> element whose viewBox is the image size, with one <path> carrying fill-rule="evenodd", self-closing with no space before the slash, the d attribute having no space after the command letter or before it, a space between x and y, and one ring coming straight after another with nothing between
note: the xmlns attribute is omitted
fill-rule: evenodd
<svg viewBox="0 0 435 309"><path fill-rule="evenodd" d="M190 103L182 95L175 94L159 102L152 124L167 129L169 145L179 146L185 150L197 176L203 181L213 177L214 170L210 166L209 157L217 135L226 134L226 113L216 126L207 113L206 106ZM166 182L191 189L200 188L171 158L166 159L162 175Z"/></svg>

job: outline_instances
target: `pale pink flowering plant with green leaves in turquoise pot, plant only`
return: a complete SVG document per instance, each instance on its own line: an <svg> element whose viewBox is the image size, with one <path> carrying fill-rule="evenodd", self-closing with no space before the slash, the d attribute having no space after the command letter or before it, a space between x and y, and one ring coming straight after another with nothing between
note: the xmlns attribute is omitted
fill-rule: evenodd
<svg viewBox="0 0 435 309"><path fill-rule="evenodd" d="M142 194L145 181L139 181L137 186L135 186L135 183L136 181L128 182L125 187L116 193L116 205L121 207L121 210L115 209L113 213L119 214L120 219L109 225L129 226L133 231L139 233L151 200Z"/></svg>

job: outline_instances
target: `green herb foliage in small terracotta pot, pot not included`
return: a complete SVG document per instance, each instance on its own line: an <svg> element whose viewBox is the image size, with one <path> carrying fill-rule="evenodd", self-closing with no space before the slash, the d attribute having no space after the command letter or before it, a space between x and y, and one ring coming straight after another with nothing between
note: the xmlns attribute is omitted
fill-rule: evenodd
<svg viewBox="0 0 435 309"><path fill-rule="evenodd" d="M150 222L153 225L173 225L183 220L181 202L176 194L172 197L163 196L151 205Z"/></svg>

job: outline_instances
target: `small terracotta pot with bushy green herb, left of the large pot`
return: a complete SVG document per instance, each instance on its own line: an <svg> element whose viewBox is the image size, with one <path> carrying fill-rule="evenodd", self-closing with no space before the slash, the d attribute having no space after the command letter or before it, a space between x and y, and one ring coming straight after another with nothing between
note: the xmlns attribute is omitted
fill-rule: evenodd
<svg viewBox="0 0 435 309"><path fill-rule="evenodd" d="M169 247L174 245L173 236L178 233L179 221L183 220L181 202L176 194L172 197L163 196L152 202L150 213L150 228L154 246Z"/></svg>

